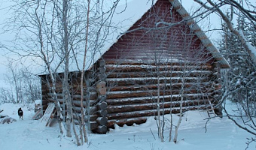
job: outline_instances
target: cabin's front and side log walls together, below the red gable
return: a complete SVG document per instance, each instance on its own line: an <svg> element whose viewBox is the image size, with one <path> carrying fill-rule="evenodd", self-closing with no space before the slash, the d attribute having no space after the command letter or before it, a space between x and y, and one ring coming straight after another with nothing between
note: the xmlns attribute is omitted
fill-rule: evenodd
<svg viewBox="0 0 256 150"><path fill-rule="evenodd" d="M159 73L157 74L157 68ZM157 77L159 75L159 77ZM181 77L185 78L184 101L182 109L210 109L221 99L220 64L182 65L169 63L166 65L150 65L139 62L112 62L100 60L97 63L94 86L84 85L89 98L90 113L86 117L89 130L94 133L106 133L114 124L123 126L142 124L148 116L157 114L157 89L160 88L161 114L179 113L181 101ZM41 77L46 79L46 77ZM79 122L81 113L80 75L72 76L72 104L74 121ZM157 80L160 84L157 85ZM62 108L62 84L56 87L58 101ZM42 82L44 110L48 102L53 102L47 83ZM170 109L172 108L172 109Z"/></svg>

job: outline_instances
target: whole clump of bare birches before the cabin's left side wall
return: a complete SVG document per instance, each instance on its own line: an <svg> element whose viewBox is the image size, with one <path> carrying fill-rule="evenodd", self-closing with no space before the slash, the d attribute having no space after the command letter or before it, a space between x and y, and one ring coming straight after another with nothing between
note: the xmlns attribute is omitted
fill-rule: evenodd
<svg viewBox="0 0 256 150"><path fill-rule="evenodd" d="M95 55L99 55L100 48L109 40L106 38L112 31L109 28L114 30L111 18L119 1L11 1L13 5L10 7L10 11L14 13L6 23L5 32L15 33L14 40L11 41L14 44L3 47L18 56L16 62L29 64L29 67L33 64L44 68L44 71L36 71L35 74L48 74L46 82L52 94L50 97L57 110L61 133L67 131L66 136L71 136L71 121L73 120L69 71L75 69L84 74L87 69L85 66L94 63ZM79 60L81 57L83 57L82 61ZM84 64L83 60L86 60ZM83 64L83 68L81 64ZM39 68L35 70L40 70ZM62 72L63 76L59 76L59 72ZM62 81L62 85L57 85L59 80ZM86 79L82 75L81 82L84 80ZM61 86L62 88L59 88ZM65 119L62 114L65 115L66 111L62 110L59 103L57 97L59 90L62 90L65 100L63 108L67 108L66 130L62 124L62 120ZM86 89L81 86L81 93L84 90ZM86 95L86 97L89 105L88 97L90 95ZM83 95L81 95L81 99L84 101ZM84 114L86 109L81 106L81 110L81 113ZM87 113L89 112L90 110L87 110ZM84 115L81 115L80 119L83 120ZM84 121L80 121L80 123L84 129L87 123ZM83 134L86 135L85 132L81 132L81 135ZM78 136L76 139L80 145ZM84 139L85 142L88 141L86 136ZM83 141L83 136L81 136L81 140Z"/></svg>

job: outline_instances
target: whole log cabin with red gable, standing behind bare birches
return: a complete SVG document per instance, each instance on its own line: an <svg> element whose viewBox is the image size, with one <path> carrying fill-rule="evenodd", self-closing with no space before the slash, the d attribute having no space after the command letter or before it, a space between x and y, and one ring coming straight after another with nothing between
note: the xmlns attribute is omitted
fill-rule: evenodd
<svg viewBox="0 0 256 150"><path fill-rule="evenodd" d="M157 0L145 9L85 72L84 107L90 108L88 127L95 133L106 133L114 124L142 124L157 115L157 107L161 115L211 110L221 100L221 69L230 66L184 7ZM56 92L65 110L62 76ZM40 77L45 110L53 98L49 75ZM70 71L69 77L73 112L79 114L81 72Z"/></svg>

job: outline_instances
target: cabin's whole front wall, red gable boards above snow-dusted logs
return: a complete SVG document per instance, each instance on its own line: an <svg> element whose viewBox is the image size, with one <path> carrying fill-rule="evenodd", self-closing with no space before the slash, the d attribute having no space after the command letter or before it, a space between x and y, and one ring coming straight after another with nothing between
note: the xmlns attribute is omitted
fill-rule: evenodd
<svg viewBox="0 0 256 150"><path fill-rule="evenodd" d="M219 64L196 34L186 23L154 29L160 21L182 20L175 10L170 15L170 7L169 1L157 1L102 55L108 127L145 122L146 116L157 114L157 98L162 114L179 113L182 85L184 111L211 109L218 104Z"/></svg>

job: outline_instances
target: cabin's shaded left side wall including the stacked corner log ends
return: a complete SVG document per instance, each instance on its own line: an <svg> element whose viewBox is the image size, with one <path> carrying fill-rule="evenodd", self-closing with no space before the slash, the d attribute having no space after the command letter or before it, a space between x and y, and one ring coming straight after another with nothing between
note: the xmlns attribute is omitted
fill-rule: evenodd
<svg viewBox="0 0 256 150"><path fill-rule="evenodd" d="M63 74L56 74L56 95L62 107L64 119L66 118L66 102L62 94ZM106 88L105 88L105 62L98 61L90 71L84 75L84 100L83 107L90 112L85 116L85 121L89 122L89 130L96 133L107 132L106 118ZM69 73L70 94L72 97L73 121L79 123L81 114L81 72ZM42 104L43 112L47 109L49 103L53 103L53 92L50 90L53 84L50 82L49 75L41 76ZM49 88L50 87L50 88ZM88 100L88 101L87 101ZM88 102L88 103L87 103ZM88 106L88 107L87 107ZM88 120L88 118L90 120ZM65 120L64 120L65 121Z"/></svg>

